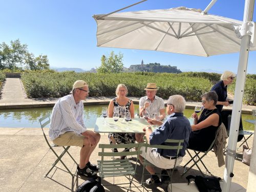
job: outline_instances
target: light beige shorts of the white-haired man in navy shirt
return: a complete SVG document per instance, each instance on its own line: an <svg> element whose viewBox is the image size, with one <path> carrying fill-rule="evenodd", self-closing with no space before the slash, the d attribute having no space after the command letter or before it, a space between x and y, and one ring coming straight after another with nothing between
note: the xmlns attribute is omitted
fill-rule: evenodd
<svg viewBox="0 0 256 192"><path fill-rule="evenodd" d="M152 163L153 165L155 165L159 168L163 168L163 169L174 168L174 164L175 164L176 159L166 159L166 158L164 158L159 153L157 153L156 148L147 147L147 151L145 152L145 147L142 146L140 148L140 150L142 151L141 156L144 159L146 159L148 162ZM183 159L183 157L178 157L175 166L180 165L180 163L182 162L182 159Z"/></svg>

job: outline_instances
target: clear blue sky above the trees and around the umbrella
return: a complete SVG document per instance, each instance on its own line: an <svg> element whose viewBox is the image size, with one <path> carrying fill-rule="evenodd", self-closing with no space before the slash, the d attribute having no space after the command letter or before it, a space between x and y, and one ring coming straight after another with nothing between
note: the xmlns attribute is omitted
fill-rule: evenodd
<svg viewBox="0 0 256 192"><path fill-rule="evenodd" d="M101 56L113 50L115 53L123 53L125 67L140 64L143 59L144 63L159 62L162 65L177 66L181 70L230 70L237 73L238 53L206 58L156 51L98 48L97 26L92 15L110 13L136 2L139 0L0 0L0 42L9 44L11 40L19 39L36 56L47 55L52 67L99 67ZM180 6L203 10L209 3L210 0L147 0L124 11ZM209 13L243 20L244 1L219 0ZM250 52L247 73L256 74L255 60L256 52Z"/></svg>

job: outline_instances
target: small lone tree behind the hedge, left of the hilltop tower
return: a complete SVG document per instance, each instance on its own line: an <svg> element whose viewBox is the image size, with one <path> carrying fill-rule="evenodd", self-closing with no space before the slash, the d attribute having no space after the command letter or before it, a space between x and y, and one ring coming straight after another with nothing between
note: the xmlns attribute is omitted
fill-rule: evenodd
<svg viewBox="0 0 256 192"><path fill-rule="evenodd" d="M116 55L111 51L109 56L102 55L101 66L97 69L98 73L119 73L123 70L123 54Z"/></svg>

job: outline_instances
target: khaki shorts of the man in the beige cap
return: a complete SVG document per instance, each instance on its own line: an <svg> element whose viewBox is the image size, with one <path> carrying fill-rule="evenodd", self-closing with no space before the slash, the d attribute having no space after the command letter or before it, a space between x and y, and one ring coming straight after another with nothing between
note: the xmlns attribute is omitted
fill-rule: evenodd
<svg viewBox="0 0 256 192"><path fill-rule="evenodd" d="M78 135L75 132L66 132L52 142L58 146L83 146L83 135Z"/></svg>

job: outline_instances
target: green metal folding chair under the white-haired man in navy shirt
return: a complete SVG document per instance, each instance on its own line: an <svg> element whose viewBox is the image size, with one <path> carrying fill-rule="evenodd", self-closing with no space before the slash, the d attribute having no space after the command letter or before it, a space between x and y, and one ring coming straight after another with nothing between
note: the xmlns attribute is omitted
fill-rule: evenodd
<svg viewBox="0 0 256 192"><path fill-rule="evenodd" d="M178 139L167 139L164 143L172 143L172 146L170 145L150 145L149 143L147 143L147 140L146 138L144 137L144 140L146 141L145 143L142 143L142 146L145 146L145 151L147 151L147 147L152 147L152 148L160 148L160 149L164 149L164 150L177 150L177 153L176 153L176 160L175 160L175 164L174 164L174 167L172 169L169 169L167 170L167 174L168 175L161 175L161 173L156 173L156 175L159 175L159 176L168 176L169 177L169 184L171 186L171 191L172 191L172 176L173 176L173 173L174 173L174 170L175 170L175 166L176 166L176 162L177 162L177 158L179 156L179 152L180 150L182 150L183 148L183 142L184 142L184 139L182 140L178 140ZM143 186L143 190L144 190L144 176L145 175L150 175L149 173L145 174L144 171L145 171L145 166L153 166L153 167L157 167L155 166L154 164L148 162L146 160L147 158L145 157L145 159L143 159L143 173L142 173L142 179L141 179L141 185Z"/></svg>

